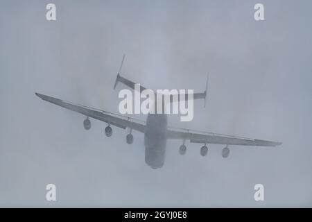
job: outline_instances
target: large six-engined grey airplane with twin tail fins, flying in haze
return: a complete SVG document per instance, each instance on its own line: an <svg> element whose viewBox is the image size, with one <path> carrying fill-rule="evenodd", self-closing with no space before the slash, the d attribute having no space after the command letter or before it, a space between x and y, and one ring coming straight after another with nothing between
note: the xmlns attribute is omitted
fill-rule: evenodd
<svg viewBox="0 0 312 222"><path fill-rule="evenodd" d="M124 57L123 57L124 59ZM123 60L121 62L121 67ZM114 89L117 83L123 83L124 85L135 90L135 83L127 78L121 76L121 67L116 77ZM193 99L205 99L207 98L207 85L206 90L203 93L194 93ZM146 87L140 86L140 91L146 89ZM130 129L130 133L126 135L125 141L127 144L132 144L134 141L132 130L144 133L144 146L145 146L145 162L152 169L158 169L164 166L165 154L166 154L166 142L167 139L181 139L183 144L179 147L180 155L185 155L187 146L185 142L189 140L191 143L203 144L200 148L200 155L205 157L208 153L207 144L223 144L225 148L222 150L222 157L229 156L229 145L239 146L279 146L281 142L272 142L261 139L250 139L246 137L235 137L232 135L222 135L216 133L208 133L184 128L172 128L167 125L167 114L147 114L146 121L139 121L130 117L125 117L120 114L114 114L106 112L104 110L98 110L90 108L85 105L79 105L56 99L44 94L35 93L44 101L48 101L55 105L59 105L62 108L67 108L74 112L85 115L86 119L83 121L85 130L91 128L91 121L89 118L98 119L108 124L105 128L105 135L107 137L112 136L112 127L116 126L123 129Z"/></svg>

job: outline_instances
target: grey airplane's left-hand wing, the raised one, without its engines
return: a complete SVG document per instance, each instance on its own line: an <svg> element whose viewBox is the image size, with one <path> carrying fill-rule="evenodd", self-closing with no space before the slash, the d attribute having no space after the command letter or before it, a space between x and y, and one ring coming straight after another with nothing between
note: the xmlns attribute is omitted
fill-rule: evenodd
<svg viewBox="0 0 312 222"><path fill-rule="evenodd" d="M98 119L100 121L109 123L119 128L125 129L128 127L133 130L137 130L141 133L145 132L145 128L146 128L145 124L139 123L138 120L132 119L130 117L124 117L118 114L105 112L104 110L97 110L94 108L89 108L84 105L78 105L78 104L70 103L67 101L62 101L61 99L56 99L51 96L46 96L46 95L39 94L39 93L35 93L35 94L39 96L41 99L43 99L44 101L48 101L55 105L60 105L62 108L67 108L68 110L72 110L74 112L79 112L81 114L84 114L87 117Z"/></svg>

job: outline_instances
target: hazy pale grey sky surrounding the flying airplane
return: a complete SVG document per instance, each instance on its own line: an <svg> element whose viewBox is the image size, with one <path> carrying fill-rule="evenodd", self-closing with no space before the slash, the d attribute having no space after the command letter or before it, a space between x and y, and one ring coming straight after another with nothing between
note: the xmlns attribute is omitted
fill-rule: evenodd
<svg viewBox="0 0 312 222"><path fill-rule="evenodd" d="M57 21L45 19L47 3ZM263 3L266 21L254 21ZM311 1L0 1L1 207L312 207ZM278 148L168 140L163 168L144 135L46 103L34 92L118 112L116 72L151 89L205 89L171 126L283 142ZM119 86L119 89L121 87ZM138 116L144 119L144 116ZM57 201L47 202L54 183ZM254 201L254 185L265 201Z"/></svg>

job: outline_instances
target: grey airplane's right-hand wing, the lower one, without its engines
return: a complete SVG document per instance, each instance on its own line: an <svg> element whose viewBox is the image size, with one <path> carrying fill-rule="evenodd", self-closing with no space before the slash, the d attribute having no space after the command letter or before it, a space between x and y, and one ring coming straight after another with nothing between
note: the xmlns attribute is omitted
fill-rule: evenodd
<svg viewBox="0 0 312 222"><path fill-rule="evenodd" d="M225 144L241 146L279 146L280 142L272 142L261 139L250 139L245 137L235 137L231 135L221 135L216 133L207 133L193 131L182 128L168 128L168 139L185 139L191 143L199 144Z"/></svg>

